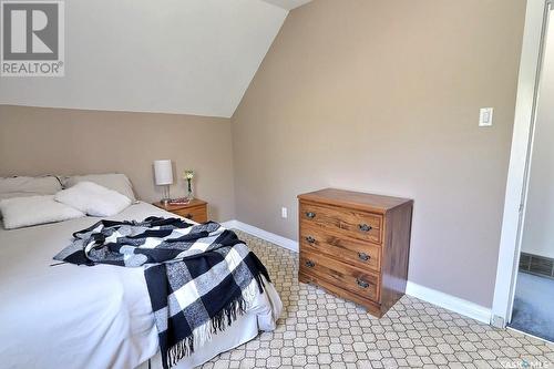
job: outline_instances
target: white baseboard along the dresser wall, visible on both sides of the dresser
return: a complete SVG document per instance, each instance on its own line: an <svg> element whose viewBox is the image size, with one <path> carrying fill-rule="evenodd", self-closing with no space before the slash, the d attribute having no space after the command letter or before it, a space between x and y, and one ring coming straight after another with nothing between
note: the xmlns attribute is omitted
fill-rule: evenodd
<svg viewBox="0 0 554 369"><path fill-rule="evenodd" d="M280 247L298 253L298 243L296 240L276 235L274 233L260 229L249 224L233 219L222 223L226 228L235 228L246 232L253 236L259 237ZM459 297L441 293L439 290L420 286L413 281L408 281L406 294L419 298L420 300L440 306L444 309L458 312L465 317L481 322L490 324L492 310L474 303L461 299Z"/></svg>

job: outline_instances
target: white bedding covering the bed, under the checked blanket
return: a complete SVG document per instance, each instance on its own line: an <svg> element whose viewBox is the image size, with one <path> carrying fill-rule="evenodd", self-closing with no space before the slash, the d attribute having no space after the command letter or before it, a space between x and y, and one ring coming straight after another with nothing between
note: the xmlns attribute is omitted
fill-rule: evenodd
<svg viewBox="0 0 554 369"><path fill-rule="evenodd" d="M152 215L168 213L138 203L111 218ZM2 368L135 368L158 352L142 268L50 266L73 232L98 221L84 217L14 230L0 228ZM201 365L252 339L258 329L275 329L281 307L268 285L267 294L245 316L197 348L178 368Z"/></svg>

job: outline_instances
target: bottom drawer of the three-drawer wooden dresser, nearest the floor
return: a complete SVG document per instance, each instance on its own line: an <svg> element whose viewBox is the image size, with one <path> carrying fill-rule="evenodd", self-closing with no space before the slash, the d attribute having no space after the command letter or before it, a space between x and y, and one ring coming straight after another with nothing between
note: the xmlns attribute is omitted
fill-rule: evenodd
<svg viewBox="0 0 554 369"><path fill-rule="evenodd" d="M353 293L363 298L378 301L379 275L337 262L326 256L301 249L300 273L312 275L322 280Z"/></svg>

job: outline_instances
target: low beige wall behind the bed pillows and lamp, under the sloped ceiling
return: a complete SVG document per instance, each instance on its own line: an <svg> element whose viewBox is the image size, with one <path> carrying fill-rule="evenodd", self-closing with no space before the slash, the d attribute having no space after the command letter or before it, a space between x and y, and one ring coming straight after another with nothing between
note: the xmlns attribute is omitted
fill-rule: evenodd
<svg viewBox="0 0 554 369"><path fill-rule="evenodd" d="M0 176L121 172L140 198L155 201L157 158L176 166L174 196L185 193L182 172L194 168L211 218L233 218L228 119L0 105Z"/></svg>

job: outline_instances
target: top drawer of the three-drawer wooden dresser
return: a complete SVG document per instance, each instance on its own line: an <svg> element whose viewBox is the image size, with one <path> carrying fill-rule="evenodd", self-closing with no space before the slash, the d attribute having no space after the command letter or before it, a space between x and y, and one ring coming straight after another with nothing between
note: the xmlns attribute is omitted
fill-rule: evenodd
<svg viewBox="0 0 554 369"><path fill-rule="evenodd" d="M361 240L381 243L382 217L378 214L300 203L299 217L300 226L315 226L331 232L340 232Z"/></svg>

